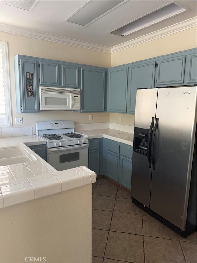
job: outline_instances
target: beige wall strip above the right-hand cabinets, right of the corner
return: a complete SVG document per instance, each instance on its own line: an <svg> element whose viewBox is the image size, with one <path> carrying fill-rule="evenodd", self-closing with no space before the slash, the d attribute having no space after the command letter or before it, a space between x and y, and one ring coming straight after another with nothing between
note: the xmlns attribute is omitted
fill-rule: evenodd
<svg viewBox="0 0 197 263"><path fill-rule="evenodd" d="M197 47L196 27L111 54L111 67Z"/></svg>

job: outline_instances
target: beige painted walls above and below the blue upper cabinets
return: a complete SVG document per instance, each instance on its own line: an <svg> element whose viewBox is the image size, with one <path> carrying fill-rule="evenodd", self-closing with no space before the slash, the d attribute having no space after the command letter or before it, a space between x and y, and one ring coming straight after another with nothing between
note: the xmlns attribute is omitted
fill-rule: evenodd
<svg viewBox="0 0 197 263"><path fill-rule="evenodd" d="M134 115L91 113L93 114L93 120L89 121L89 113L73 113L69 111L44 111L38 114L16 113L13 62L15 55L29 55L94 66L113 67L197 47L196 27L112 54L4 32L1 32L1 40L8 42L13 126L32 126L33 133L35 133L35 123L38 121L64 119L72 120L75 124L115 122L125 125L134 125ZM121 122L119 121L119 116L122 116ZM23 117L23 125L15 125L15 117Z"/></svg>

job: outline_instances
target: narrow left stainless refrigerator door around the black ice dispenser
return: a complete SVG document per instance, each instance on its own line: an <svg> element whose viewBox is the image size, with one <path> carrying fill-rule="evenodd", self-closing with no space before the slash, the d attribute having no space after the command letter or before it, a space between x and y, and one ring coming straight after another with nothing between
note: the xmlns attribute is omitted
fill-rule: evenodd
<svg viewBox="0 0 197 263"><path fill-rule="evenodd" d="M157 91L157 88L137 90L135 106L135 127L138 127L140 129L147 129L147 132L150 128L152 117L154 117L155 119ZM150 191L151 166L149 167L148 157L147 155L143 155L133 151L131 196L149 207Z"/></svg>

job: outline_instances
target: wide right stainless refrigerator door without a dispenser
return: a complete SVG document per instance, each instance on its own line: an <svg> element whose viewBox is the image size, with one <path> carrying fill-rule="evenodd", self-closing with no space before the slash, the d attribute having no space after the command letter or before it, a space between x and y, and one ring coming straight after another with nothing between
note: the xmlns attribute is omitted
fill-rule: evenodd
<svg viewBox="0 0 197 263"><path fill-rule="evenodd" d="M196 129L196 87L158 90L150 209L184 230Z"/></svg>

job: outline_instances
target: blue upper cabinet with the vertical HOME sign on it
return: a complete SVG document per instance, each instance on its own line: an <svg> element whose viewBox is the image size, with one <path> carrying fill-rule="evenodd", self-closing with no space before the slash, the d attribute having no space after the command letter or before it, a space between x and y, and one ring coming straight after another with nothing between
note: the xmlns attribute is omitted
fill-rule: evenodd
<svg viewBox="0 0 197 263"><path fill-rule="evenodd" d="M16 107L18 113L39 112L36 59L17 55L14 58Z"/></svg>

